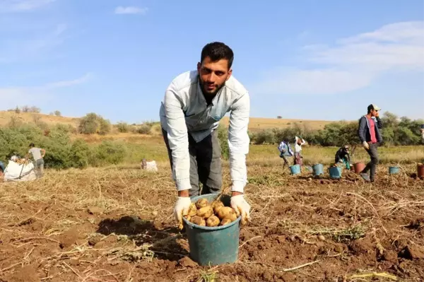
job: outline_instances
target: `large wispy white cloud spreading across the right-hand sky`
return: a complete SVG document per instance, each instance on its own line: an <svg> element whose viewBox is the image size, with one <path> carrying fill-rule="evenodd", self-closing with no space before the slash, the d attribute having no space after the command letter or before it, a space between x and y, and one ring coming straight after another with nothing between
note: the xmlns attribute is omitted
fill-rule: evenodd
<svg viewBox="0 0 424 282"><path fill-rule="evenodd" d="M393 23L334 45L312 45L305 52L307 69L273 70L255 83L254 92L334 94L372 85L398 71L424 71L424 21Z"/></svg>

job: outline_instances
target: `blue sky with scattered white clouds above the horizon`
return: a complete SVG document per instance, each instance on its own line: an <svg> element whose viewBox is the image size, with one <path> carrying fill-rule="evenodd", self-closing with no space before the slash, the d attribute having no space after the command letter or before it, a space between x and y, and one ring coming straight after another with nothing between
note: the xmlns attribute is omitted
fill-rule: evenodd
<svg viewBox="0 0 424 282"><path fill-rule="evenodd" d="M235 52L252 117L424 117L420 0L0 0L0 110L158 120L212 41Z"/></svg>

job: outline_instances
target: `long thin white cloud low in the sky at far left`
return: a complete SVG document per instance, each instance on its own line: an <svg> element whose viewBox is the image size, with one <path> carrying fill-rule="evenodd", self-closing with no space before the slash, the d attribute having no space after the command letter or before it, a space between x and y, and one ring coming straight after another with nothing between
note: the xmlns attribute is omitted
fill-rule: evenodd
<svg viewBox="0 0 424 282"><path fill-rule="evenodd" d="M88 73L81 78L76 78L69 81L56 81L47 83L42 86L29 86L29 87L4 87L0 88L1 107L6 109L8 107L15 107L16 101L25 101L27 103L40 101L42 97L52 94L52 90L59 88L66 88L86 83L92 74Z"/></svg>

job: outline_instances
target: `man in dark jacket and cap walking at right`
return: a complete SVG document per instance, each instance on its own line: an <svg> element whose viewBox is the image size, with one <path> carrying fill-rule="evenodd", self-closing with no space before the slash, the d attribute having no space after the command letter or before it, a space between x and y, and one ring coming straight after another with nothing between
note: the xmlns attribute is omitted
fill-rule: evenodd
<svg viewBox="0 0 424 282"><path fill-rule="evenodd" d="M375 170L378 164L377 148L379 143L383 141L379 129L383 128L383 124L379 118L379 110L381 109L377 105L371 104L367 110L367 114L359 119L358 136L363 143L365 151L370 155L371 161L361 172L361 175L364 180L374 182ZM367 175L368 171L370 171L370 177Z"/></svg>

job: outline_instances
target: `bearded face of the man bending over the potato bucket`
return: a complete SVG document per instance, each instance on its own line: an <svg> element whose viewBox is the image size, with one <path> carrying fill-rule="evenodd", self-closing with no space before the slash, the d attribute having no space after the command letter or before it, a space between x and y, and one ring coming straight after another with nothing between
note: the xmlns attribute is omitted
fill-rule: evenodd
<svg viewBox="0 0 424 282"><path fill-rule="evenodd" d="M204 95L215 95L224 86L225 81L230 78L232 69L228 69L228 60L220 59L211 61L206 57L203 62L197 63L201 90Z"/></svg>

